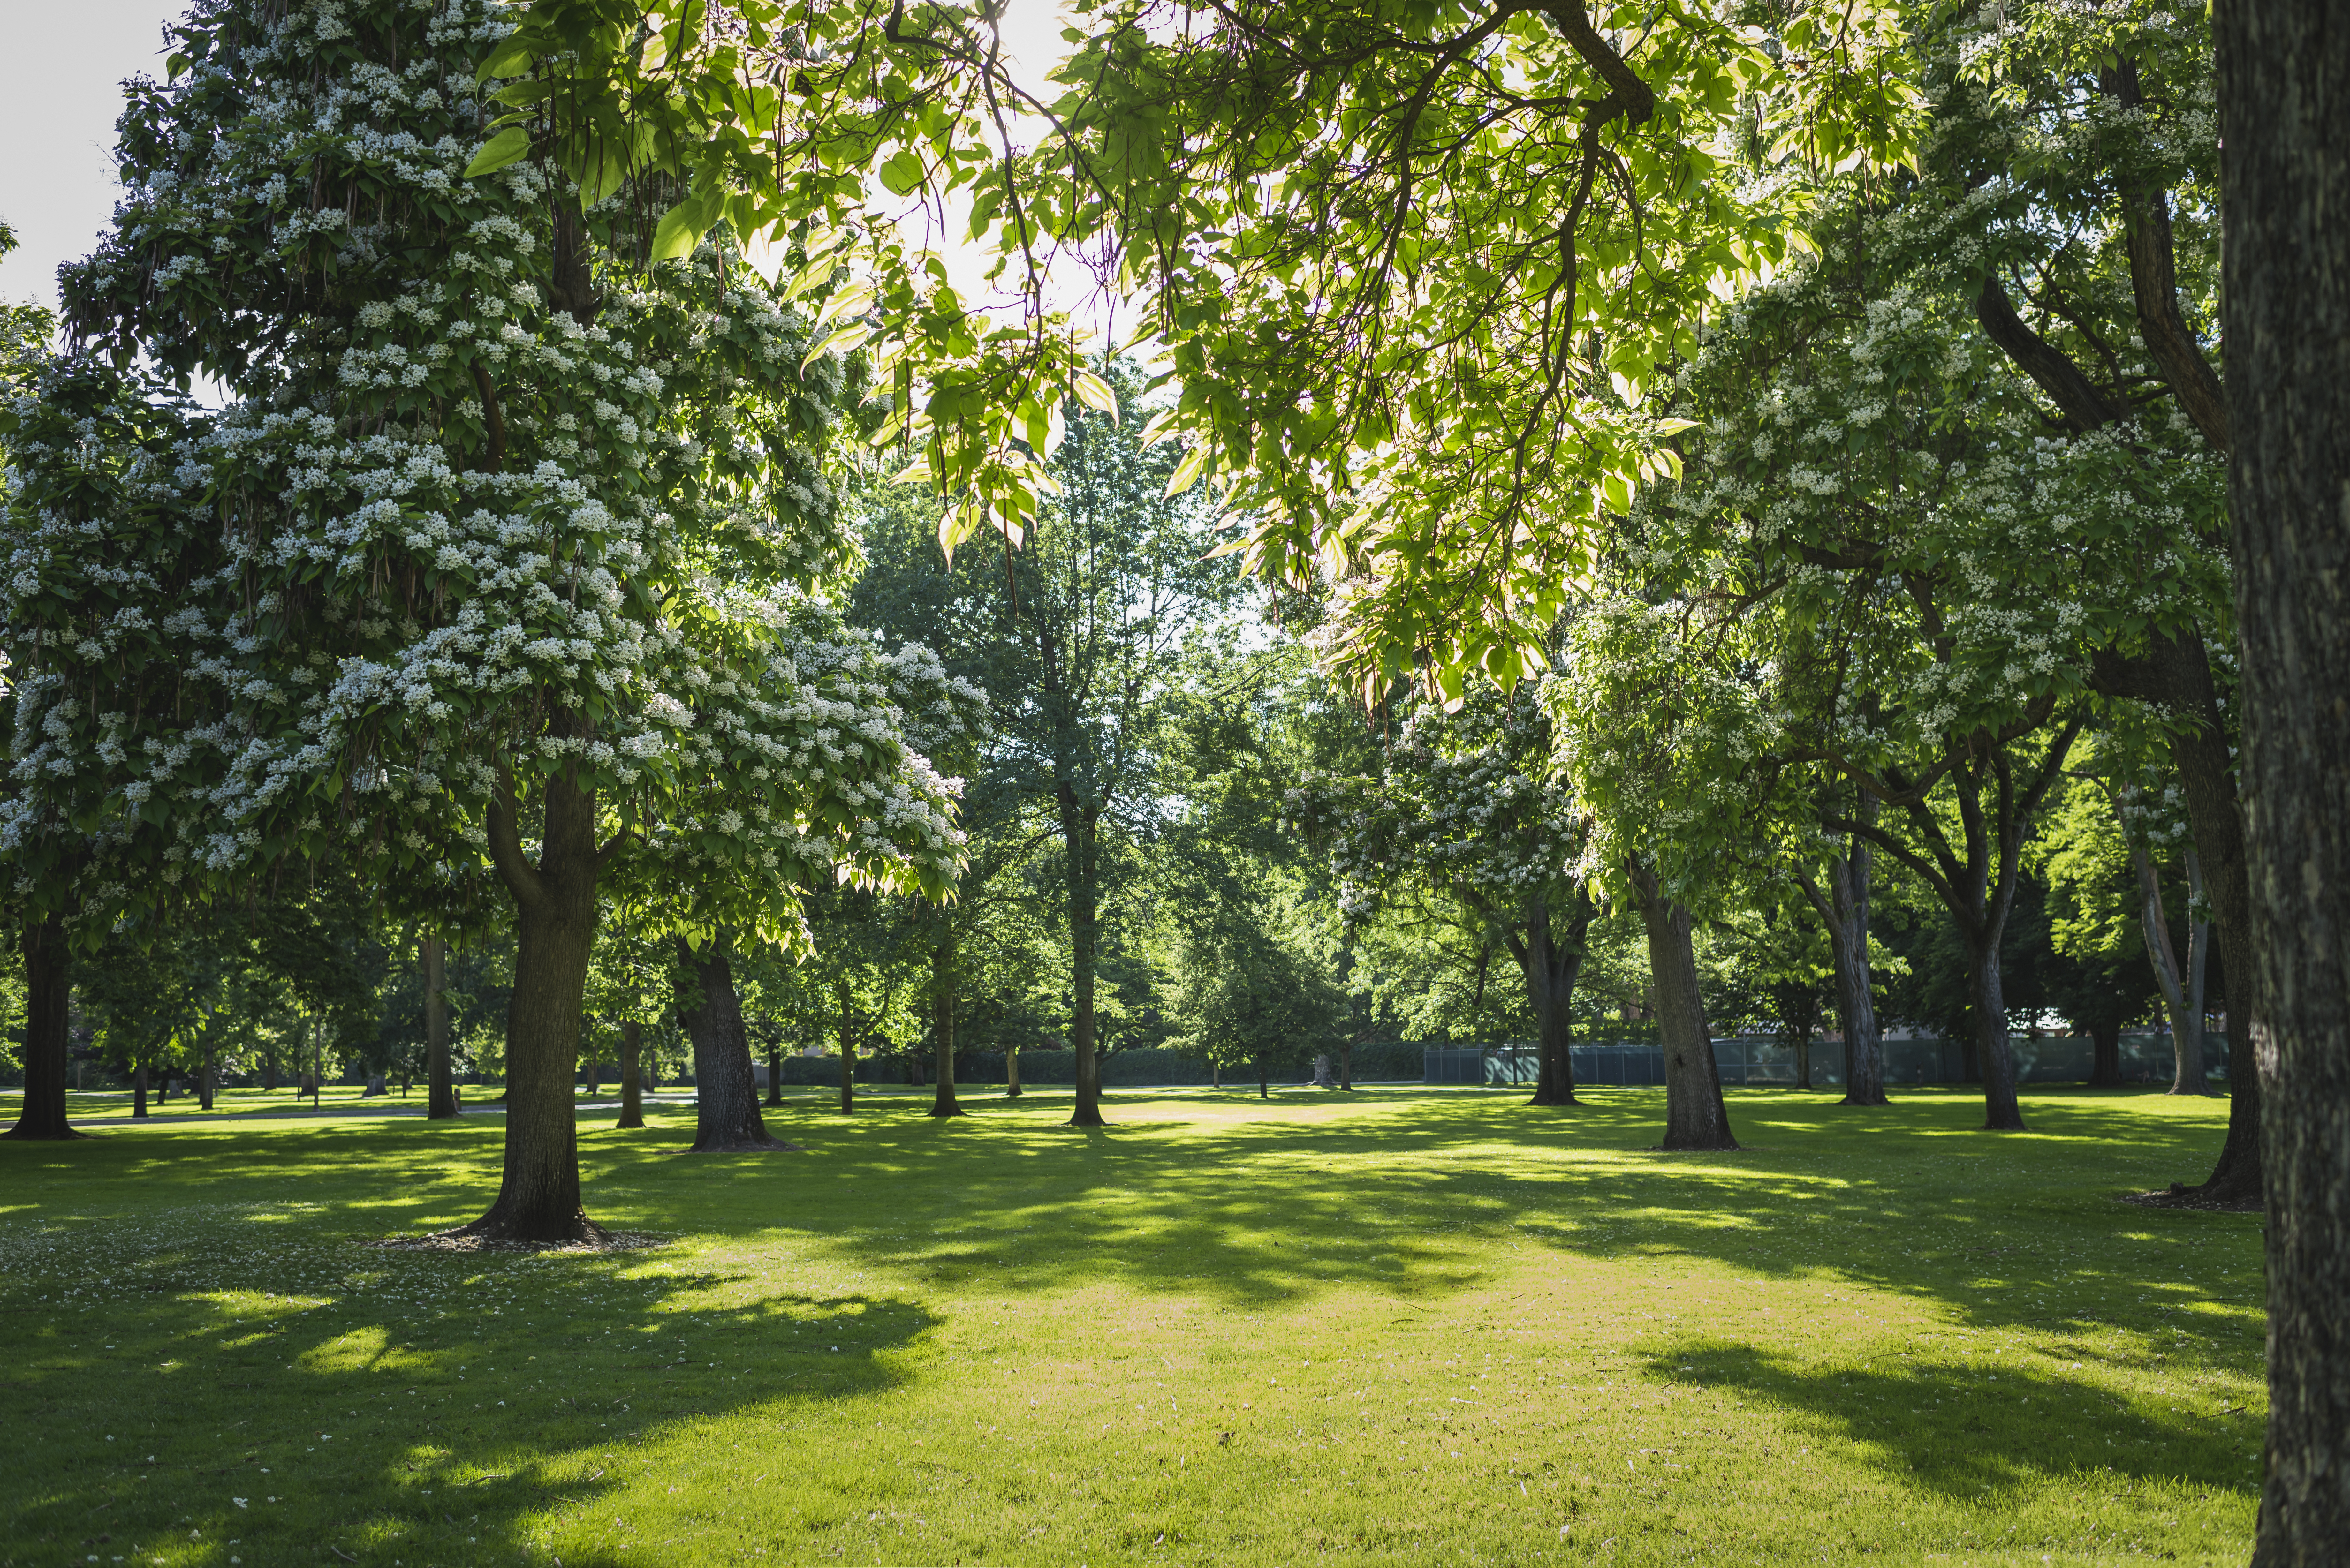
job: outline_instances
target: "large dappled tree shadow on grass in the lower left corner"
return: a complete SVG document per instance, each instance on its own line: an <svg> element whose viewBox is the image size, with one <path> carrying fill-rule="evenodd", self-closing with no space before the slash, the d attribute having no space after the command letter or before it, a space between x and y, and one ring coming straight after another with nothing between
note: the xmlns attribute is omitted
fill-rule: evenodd
<svg viewBox="0 0 2350 1568"><path fill-rule="evenodd" d="M0 1425L42 1434L12 1460L0 1540L512 1561L533 1519L642 1472L649 1429L893 1389L893 1352L938 1324L858 1293L682 1312L743 1279L663 1251L385 1253L327 1225L174 1208L0 1232Z"/></svg>

